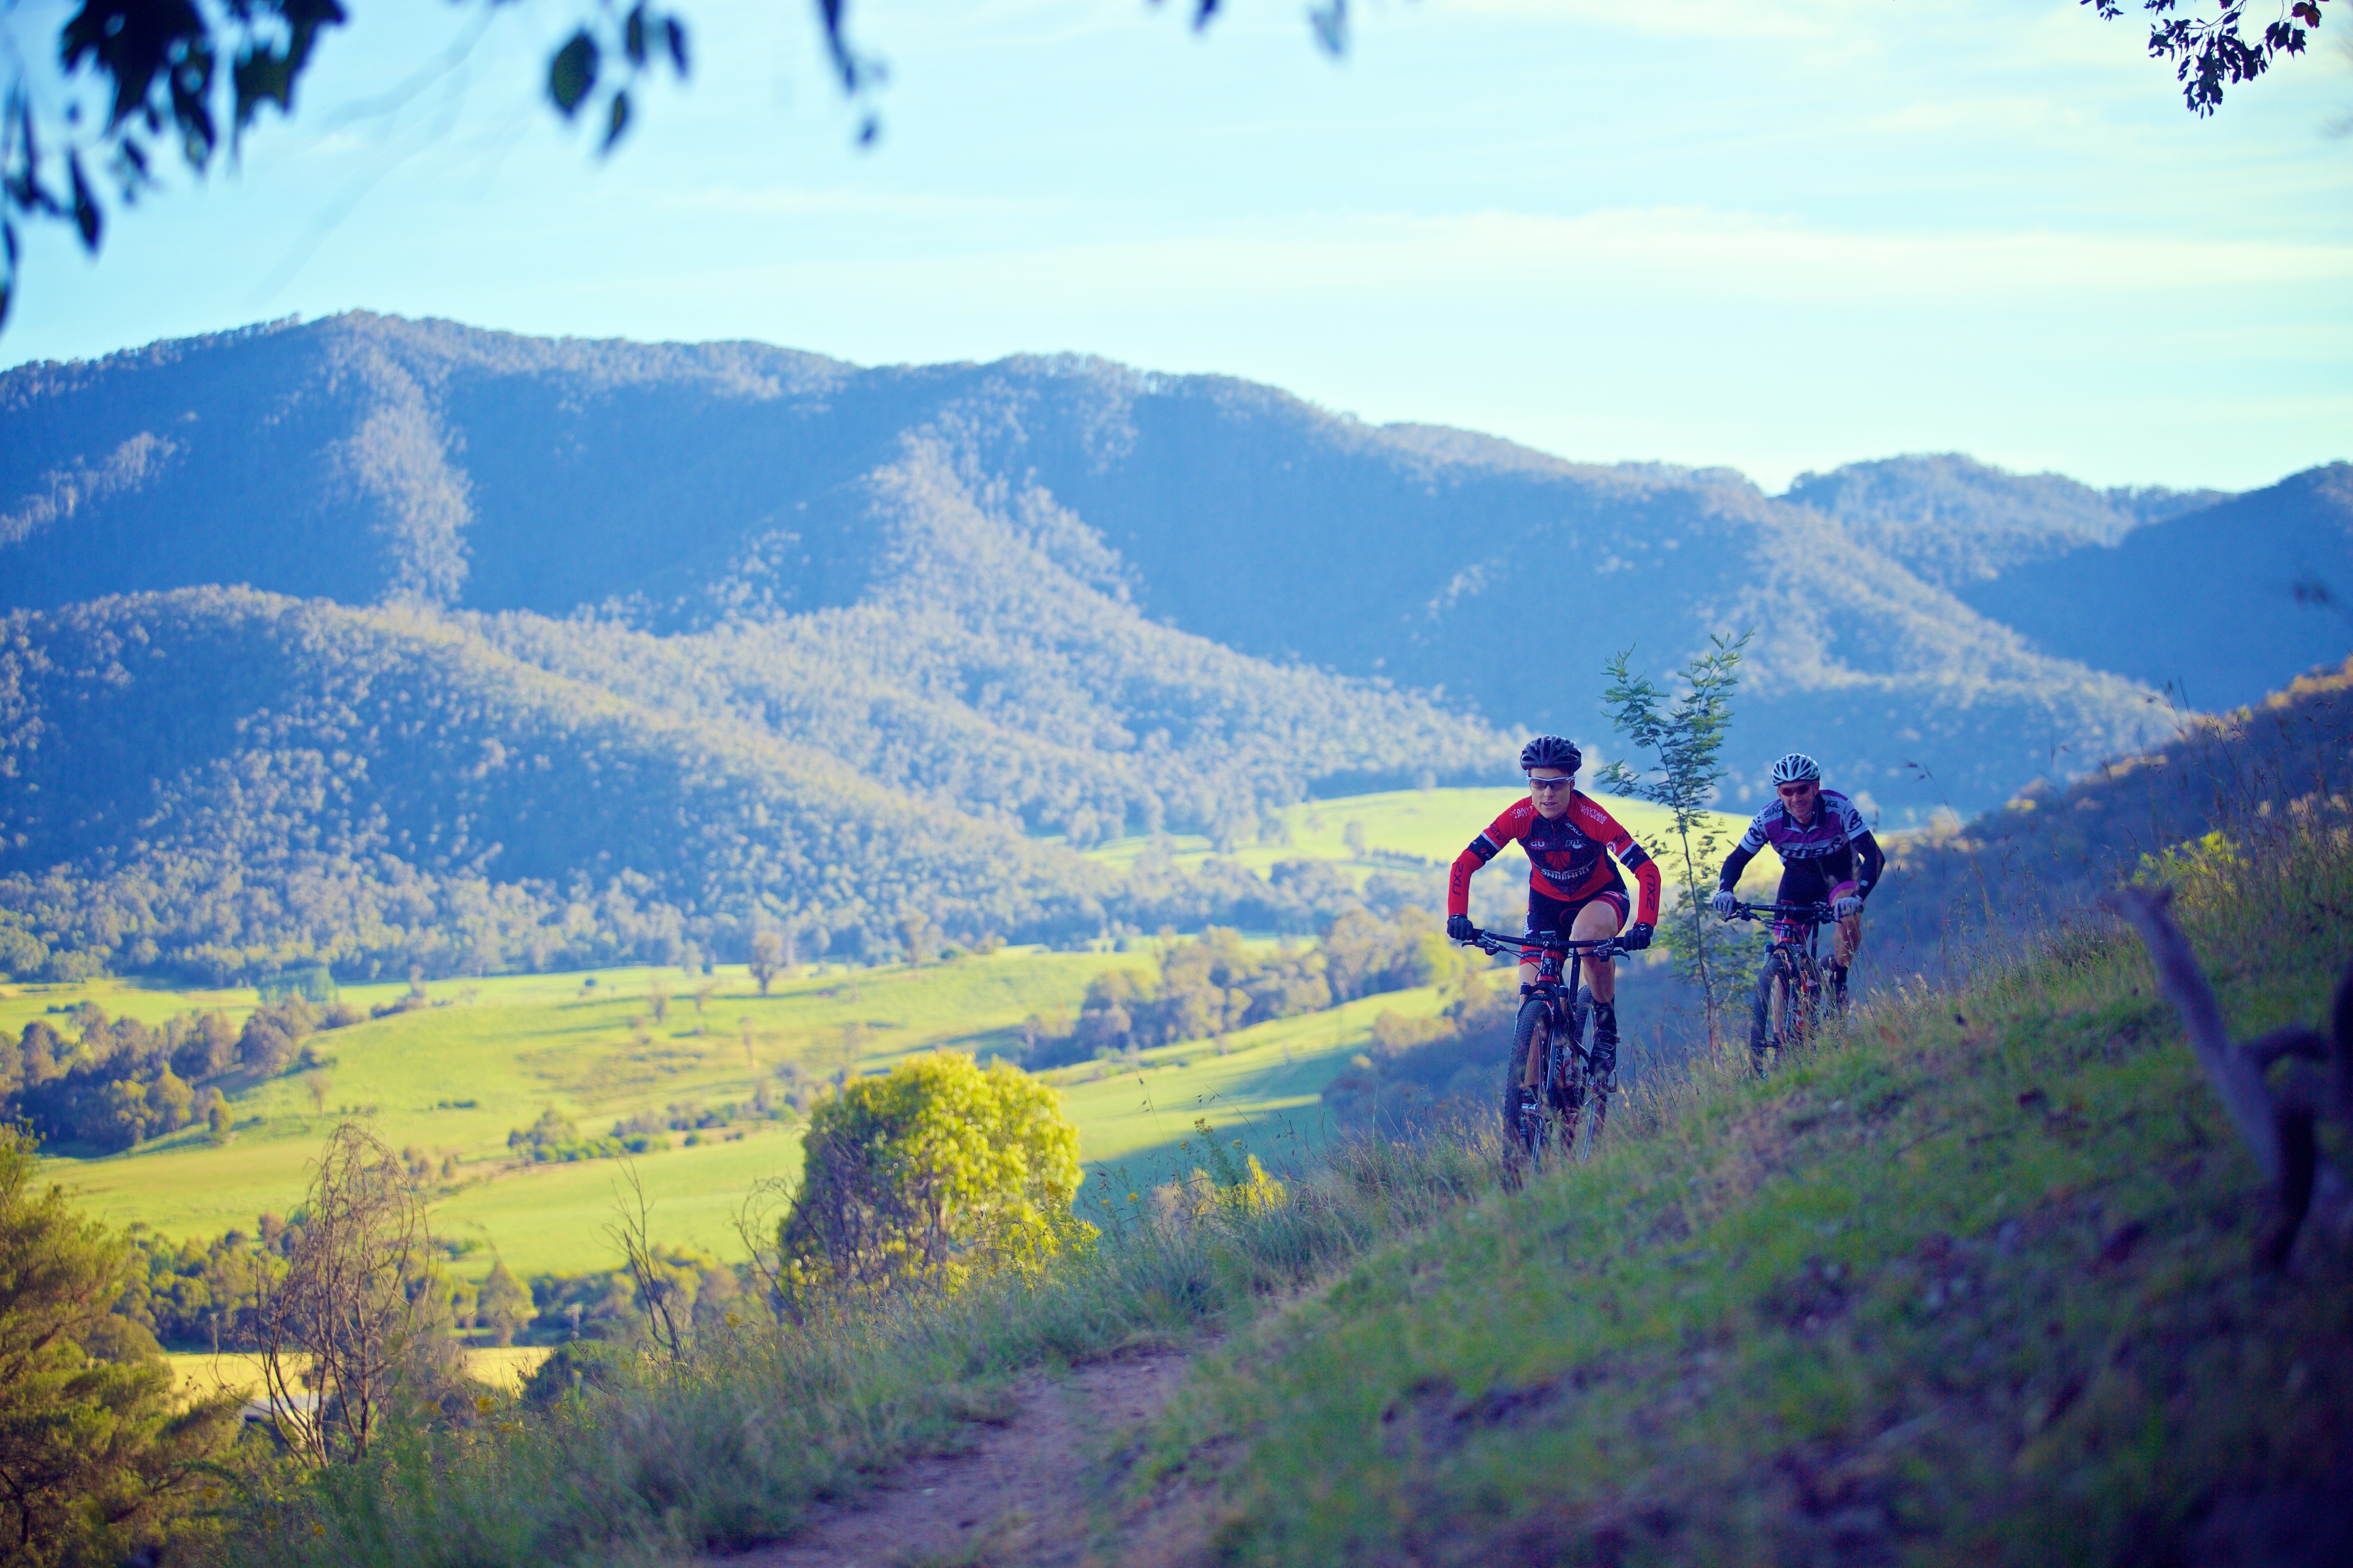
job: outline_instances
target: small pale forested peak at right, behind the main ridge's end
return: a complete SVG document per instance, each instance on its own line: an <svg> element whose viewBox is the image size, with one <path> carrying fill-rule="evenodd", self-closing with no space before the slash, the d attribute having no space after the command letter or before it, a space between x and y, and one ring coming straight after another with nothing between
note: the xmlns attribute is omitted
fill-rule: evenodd
<svg viewBox="0 0 2353 1568"><path fill-rule="evenodd" d="M2092 489L1958 451L1802 473L1781 498L1814 508L1922 581L1962 595L2017 567L2080 545L2113 545L2148 522L2228 501L2217 489Z"/></svg>

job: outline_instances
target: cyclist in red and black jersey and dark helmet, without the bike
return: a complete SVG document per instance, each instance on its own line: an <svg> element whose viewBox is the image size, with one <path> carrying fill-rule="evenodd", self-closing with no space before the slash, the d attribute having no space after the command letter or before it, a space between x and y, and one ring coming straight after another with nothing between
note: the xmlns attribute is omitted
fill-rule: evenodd
<svg viewBox="0 0 2353 1568"><path fill-rule="evenodd" d="M1537 736L1520 750L1527 799L1513 802L1454 856L1454 872L1447 877L1449 938L1471 940L1471 877L1518 839L1527 851L1529 940L1555 931L1577 943L1617 936L1626 924L1626 879L1609 863L1617 856L1642 889L1621 945L1626 952L1649 947L1659 924L1659 867L1598 799L1577 790L1579 764L1584 752L1560 736ZM1522 994L1537 983L1539 957L1537 947L1520 950ZM1609 959L1586 954L1586 980L1593 985L1593 1070L1609 1072L1617 1065L1617 969Z"/></svg>

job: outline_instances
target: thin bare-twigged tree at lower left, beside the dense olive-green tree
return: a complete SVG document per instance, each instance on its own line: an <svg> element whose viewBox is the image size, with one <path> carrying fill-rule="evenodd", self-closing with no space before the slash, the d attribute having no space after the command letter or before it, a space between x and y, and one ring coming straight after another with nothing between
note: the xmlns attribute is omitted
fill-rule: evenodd
<svg viewBox="0 0 2353 1568"><path fill-rule="evenodd" d="M261 1382L278 1436L313 1465L360 1460L419 1356L424 1204L358 1121L327 1135L287 1272L261 1302Z"/></svg>

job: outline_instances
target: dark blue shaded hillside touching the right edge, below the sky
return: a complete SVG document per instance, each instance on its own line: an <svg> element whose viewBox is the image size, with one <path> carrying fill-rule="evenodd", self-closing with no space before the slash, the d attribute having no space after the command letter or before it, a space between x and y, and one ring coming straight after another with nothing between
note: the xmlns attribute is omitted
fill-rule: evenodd
<svg viewBox="0 0 2353 1568"><path fill-rule="evenodd" d="M2261 701L2353 649L2353 463L2012 567L1960 597L2049 654L2169 684L2191 708Z"/></svg>

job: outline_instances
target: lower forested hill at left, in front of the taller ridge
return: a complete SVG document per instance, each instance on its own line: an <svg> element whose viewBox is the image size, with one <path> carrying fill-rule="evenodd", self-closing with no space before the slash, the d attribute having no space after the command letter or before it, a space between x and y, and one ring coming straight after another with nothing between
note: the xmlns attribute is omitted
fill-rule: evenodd
<svg viewBox="0 0 2353 1568"><path fill-rule="evenodd" d="M725 950L762 914L826 914L859 950L901 907L1012 931L1108 889L1014 827L426 611L179 590L19 614L5 639L0 905L129 969L675 961L689 914L729 917L701 922Z"/></svg>

